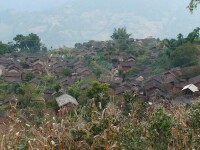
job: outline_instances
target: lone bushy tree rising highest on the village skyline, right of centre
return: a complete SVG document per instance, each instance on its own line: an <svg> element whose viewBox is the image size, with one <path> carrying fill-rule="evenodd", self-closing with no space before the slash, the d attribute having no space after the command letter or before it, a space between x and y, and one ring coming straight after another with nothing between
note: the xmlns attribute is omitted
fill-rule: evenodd
<svg viewBox="0 0 200 150"><path fill-rule="evenodd" d="M114 28L114 32L111 35L111 38L113 40L127 40L129 39L129 37L131 36L131 34L128 34L126 32L126 28Z"/></svg>

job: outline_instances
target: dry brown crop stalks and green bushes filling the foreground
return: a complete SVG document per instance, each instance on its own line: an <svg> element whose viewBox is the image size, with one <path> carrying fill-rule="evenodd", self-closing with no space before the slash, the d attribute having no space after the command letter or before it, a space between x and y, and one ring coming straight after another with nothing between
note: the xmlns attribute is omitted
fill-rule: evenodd
<svg viewBox="0 0 200 150"><path fill-rule="evenodd" d="M100 109L90 100L64 117L44 113L40 124L12 106L1 149L199 149L199 116L200 101L151 105L130 93L120 106L112 100Z"/></svg>

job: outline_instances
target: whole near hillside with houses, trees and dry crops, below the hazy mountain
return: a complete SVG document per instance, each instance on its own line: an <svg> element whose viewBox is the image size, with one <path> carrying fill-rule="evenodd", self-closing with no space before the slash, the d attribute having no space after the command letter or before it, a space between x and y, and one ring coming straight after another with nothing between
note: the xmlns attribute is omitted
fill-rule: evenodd
<svg viewBox="0 0 200 150"><path fill-rule="evenodd" d="M133 39L118 28L112 40L54 50L35 34L0 43L2 147L199 145L185 141L187 134L199 135L199 31L160 40ZM29 141L32 137L37 140ZM41 144L44 139L50 144Z"/></svg>

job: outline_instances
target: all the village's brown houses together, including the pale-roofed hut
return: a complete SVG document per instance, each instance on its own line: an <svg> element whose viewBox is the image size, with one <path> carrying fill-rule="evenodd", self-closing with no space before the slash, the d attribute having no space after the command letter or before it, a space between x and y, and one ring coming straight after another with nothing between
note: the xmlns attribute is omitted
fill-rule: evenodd
<svg viewBox="0 0 200 150"><path fill-rule="evenodd" d="M146 39L155 40L155 39ZM129 42L137 42L143 44L145 41L133 40ZM44 54L28 54L17 53L5 54L0 56L0 76L4 77L9 82L26 82L28 73L35 76L48 74L50 76L58 77L61 87L61 97L56 99L58 106L64 108L69 102L78 105L77 101L67 95L65 90L68 86L74 84L78 80L92 76L92 70L86 65L83 58L96 55L97 51L108 46L109 42L95 42L90 41L83 45L78 45L71 53L76 58L65 58L62 55L47 56ZM155 53L154 53L155 51ZM158 47L152 47L152 53L149 57L155 59L157 57ZM176 97L182 96L198 96L198 89L200 88L200 75L193 77L186 77L181 68L173 68L158 75L139 74L132 76L128 80L119 75L119 70L128 71L135 65L135 57L131 54L123 53L112 56L113 69L109 74L104 74L99 78L100 82L108 83L116 95L122 95L126 91L136 93L141 99L156 101L157 99L173 100ZM63 75L64 69L68 69L69 75ZM34 81L36 84L39 82ZM195 94L194 94L195 93ZM197 93L197 94L196 94ZM44 91L44 98L48 99L55 94L55 90L46 89ZM71 106L70 106L71 107ZM60 110L63 114L66 110Z"/></svg>

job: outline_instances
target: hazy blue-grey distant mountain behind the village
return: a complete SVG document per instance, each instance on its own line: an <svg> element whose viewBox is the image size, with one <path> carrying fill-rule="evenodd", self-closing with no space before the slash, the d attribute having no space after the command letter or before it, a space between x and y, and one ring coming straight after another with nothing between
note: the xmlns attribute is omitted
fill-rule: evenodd
<svg viewBox="0 0 200 150"><path fill-rule="evenodd" d="M19 33L37 33L48 47L107 40L116 27L126 27L134 38L187 35L200 26L200 11L190 14L184 0L70 0L37 12L0 11L0 40Z"/></svg>

